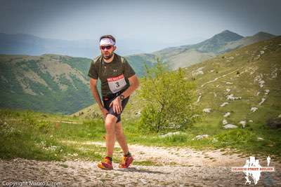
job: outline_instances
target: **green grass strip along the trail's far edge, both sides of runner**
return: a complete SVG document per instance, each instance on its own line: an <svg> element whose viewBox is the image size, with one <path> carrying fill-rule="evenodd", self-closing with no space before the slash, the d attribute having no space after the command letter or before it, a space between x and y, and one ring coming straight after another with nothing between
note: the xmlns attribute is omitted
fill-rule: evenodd
<svg viewBox="0 0 281 187"><path fill-rule="evenodd" d="M105 128L101 119L79 120L69 116L2 109L0 117L0 158L97 161L105 155L105 147L91 144L92 141L104 141ZM230 148L243 155L270 155L276 160L281 156L281 130L270 130L264 125L251 124L245 129L223 130L215 115L204 118L180 134L161 137L161 134L139 131L136 121L123 120L123 123L129 144L199 150ZM198 134L209 134L209 137L195 140ZM264 140L258 141L258 137ZM113 161L119 162L121 156L121 148L115 148ZM151 160L134 164L157 165Z"/></svg>

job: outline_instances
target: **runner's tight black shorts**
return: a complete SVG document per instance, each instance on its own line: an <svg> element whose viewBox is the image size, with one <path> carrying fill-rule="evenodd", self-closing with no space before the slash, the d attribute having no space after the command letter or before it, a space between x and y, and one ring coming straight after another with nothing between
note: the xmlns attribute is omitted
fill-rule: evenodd
<svg viewBox="0 0 281 187"><path fill-rule="evenodd" d="M113 95L107 95L107 96L103 96L103 106L105 106L105 109L107 109L108 113L112 114L113 116L116 116L117 117L117 122L118 123L119 121L121 121L121 113L122 111L124 110L127 102L129 101L129 97L126 97L125 99L123 99L122 101L122 111L121 113L116 113L113 111L113 107L111 106L110 107L110 103L116 98L118 97L119 95L121 95L122 92L117 92Z"/></svg>

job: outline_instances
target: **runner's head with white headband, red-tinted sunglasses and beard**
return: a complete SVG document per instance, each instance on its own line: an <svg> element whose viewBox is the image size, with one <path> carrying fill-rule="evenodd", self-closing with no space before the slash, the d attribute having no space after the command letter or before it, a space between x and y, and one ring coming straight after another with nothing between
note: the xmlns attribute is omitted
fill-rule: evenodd
<svg viewBox="0 0 281 187"><path fill-rule="evenodd" d="M100 36L100 52L104 59L110 59L115 50L115 38L112 35Z"/></svg>

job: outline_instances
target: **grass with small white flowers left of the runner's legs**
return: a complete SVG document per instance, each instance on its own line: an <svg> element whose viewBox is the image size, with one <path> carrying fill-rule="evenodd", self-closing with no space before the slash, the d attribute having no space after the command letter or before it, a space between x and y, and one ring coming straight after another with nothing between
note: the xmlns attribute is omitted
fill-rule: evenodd
<svg viewBox="0 0 281 187"><path fill-rule="evenodd" d="M44 115L44 120L40 116ZM100 160L105 148L91 146L81 149L79 144L63 144L62 140L96 140L95 125L100 121L74 125L69 123L51 122L53 119L72 120L65 116L40 114L32 111L1 110L0 113L0 157L28 158L35 160L66 160L88 159ZM89 134L89 132L94 132ZM85 147L85 146L84 146Z"/></svg>

